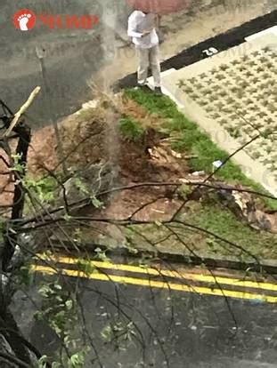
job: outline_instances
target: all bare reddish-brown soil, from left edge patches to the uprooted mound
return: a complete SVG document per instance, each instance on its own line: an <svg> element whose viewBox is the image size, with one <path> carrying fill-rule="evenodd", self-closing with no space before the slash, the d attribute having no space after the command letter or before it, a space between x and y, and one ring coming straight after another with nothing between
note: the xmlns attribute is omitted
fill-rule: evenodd
<svg viewBox="0 0 277 368"><path fill-rule="evenodd" d="M114 107L104 101L98 108L82 110L60 122L67 168L75 171L85 168L87 164L109 161L118 168L118 186L139 182L173 182L185 178L185 159L173 156L166 137L156 130L160 124L158 116L150 115L134 101L121 102L118 100ZM124 115L132 116L143 125L145 134L142 140L132 142L120 136L118 120ZM61 172L59 161L53 126L35 132L29 148L29 173L41 176L48 171ZM4 171L4 164L0 170ZM6 175L0 177L2 188L7 179ZM8 189L12 191L11 184ZM136 218L160 219L172 213L179 203L171 198L172 189L142 187L117 193L105 215L124 218L158 196L163 199L144 208ZM1 204L11 204L12 193L0 194L0 201Z"/></svg>

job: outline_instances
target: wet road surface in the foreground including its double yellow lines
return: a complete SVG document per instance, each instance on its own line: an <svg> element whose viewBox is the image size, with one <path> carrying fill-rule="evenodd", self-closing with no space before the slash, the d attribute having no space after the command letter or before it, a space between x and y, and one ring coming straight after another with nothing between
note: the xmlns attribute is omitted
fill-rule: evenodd
<svg viewBox="0 0 277 368"><path fill-rule="evenodd" d="M98 359L90 356L87 368L277 366L277 284L272 281L215 276L180 265L142 268L110 261L94 261L94 271L84 274L77 271L77 260L58 261L64 275L78 284L98 353ZM42 264L34 270L53 273ZM108 334L108 343L102 336L109 325L120 326L130 339L118 343ZM53 335L42 336L43 330L33 325L31 340L51 354L45 347L51 347Z"/></svg>

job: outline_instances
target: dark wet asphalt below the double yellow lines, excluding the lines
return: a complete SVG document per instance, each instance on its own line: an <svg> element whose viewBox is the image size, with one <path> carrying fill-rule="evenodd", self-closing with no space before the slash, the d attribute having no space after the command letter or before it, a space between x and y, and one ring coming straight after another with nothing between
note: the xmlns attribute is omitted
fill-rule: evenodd
<svg viewBox="0 0 277 368"><path fill-rule="evenodd" d="M98 355L87 368L277 367L277 305L91 280L78 288ZM122 332L112 343L102 338L109 324ZM56 347L41 322L30 338L46 354Z"/></svg>

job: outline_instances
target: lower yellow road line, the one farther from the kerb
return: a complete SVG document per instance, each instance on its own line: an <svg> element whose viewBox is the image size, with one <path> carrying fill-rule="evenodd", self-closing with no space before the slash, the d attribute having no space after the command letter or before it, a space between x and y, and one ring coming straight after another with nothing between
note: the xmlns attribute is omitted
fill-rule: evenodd
<svg viewBox="0 0 277 368"><path fill-rule="evenodd" d="M45 266L33 266L32 270L34 272L42 272L50 275L58 273L58 270ZM197 292L206 295L225 296L229 298L246 299L246 300L262 300L268 303L277 303L277 297L254 294L249 292L234 292L231 290L221 291L220 289L212 289L208 287L163 283L160 281L145 280L141 278L126 277L126 276L104 275L94 272L86 274L83 271L77 271L72 269L62 269L61 272L62 275L65 276L84 277L100 281L113 281L114 283L120 284L133 284L133 285L154 287L159 289L176 290L179 292Z"/></svg>

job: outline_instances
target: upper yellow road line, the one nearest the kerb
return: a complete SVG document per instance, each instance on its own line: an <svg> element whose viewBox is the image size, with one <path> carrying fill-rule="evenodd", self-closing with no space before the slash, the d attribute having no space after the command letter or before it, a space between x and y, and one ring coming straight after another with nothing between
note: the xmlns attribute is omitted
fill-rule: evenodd
<svg viewBox="0 0 277 368"><path fill-rule="evenodd" d="M56 262L66 263L66 264L77 264L78 260L69 258L69 257L54 257L53 260ZM107 261L99 261L99 260L88 260L88 263L94 266L95 268L107 268L107 269L115 269L118 271L126 271L126 272L136 272L143 275L151 275L151 276L169 276L175 278L184 278L188 280L200 281L204 283L211 284L225 284L232 286L241 286L245 288L255 288L261 290L269 290L272 292L277 292L277 284L269 284L269 283L258 283L255 281L242 281L238 278L231 277L222 277L222 276L210 276L210 275L200 275L200 274L192 274L186 272L179 271L170 271L167 269L155 269L155 268L141 268L138 266L129 266L124 264L115 264Z"/></svg>

